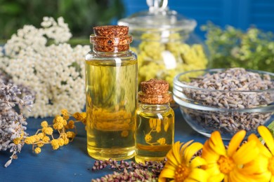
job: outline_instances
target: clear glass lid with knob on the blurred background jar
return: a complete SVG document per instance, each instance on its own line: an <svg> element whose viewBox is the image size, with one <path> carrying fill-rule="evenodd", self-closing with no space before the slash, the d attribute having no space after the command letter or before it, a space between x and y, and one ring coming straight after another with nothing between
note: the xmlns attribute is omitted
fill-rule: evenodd
<svg viewBox="0 0 274 182"><path fill-rule="evenodd" d="M185 18L175 10L169 10L168 0L147 0L148 11L135 13L118 21L118 25L130 27L130 31L185 31L195 29L197 22Z"/></svg>

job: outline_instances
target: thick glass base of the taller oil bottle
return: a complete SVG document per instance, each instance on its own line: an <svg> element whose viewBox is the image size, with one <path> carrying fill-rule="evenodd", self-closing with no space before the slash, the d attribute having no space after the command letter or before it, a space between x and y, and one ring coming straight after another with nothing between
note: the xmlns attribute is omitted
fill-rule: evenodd
<svg viewBox="0 0 274 182"><path fill-rule="evenodd" d="M88 153L91 158L96 160L127 160L133 158L135 155L135 148L95 148L88 147Z"/></svg>

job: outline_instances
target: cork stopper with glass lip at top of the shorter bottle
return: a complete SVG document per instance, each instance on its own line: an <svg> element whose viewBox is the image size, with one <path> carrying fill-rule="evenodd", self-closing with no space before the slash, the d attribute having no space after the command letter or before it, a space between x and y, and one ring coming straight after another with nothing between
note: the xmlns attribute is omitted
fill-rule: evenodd
<svg viewBox="0 0 274 182"><path fill-rule="evenodd" d="M172 95L169 92L169 83L165 80L150 79L141 82L141 92L138 98L146 104L166 104L171 102Z"/></svg>

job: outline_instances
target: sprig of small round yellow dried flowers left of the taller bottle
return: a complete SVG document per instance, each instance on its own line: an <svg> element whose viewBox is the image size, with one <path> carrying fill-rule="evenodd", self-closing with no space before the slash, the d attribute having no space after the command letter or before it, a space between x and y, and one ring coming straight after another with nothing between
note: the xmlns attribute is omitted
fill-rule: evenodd
<svg viewBox="0 0 274 182"><path fill-rule="evenodd" d="M74 120L70 120L70 118ZM25 144L31 144L34 153L41 153L41 147L45 144L51 144L53 150L57 150L60 146L64 146L73 141L77 134L77 129L74 123L81 122L86 125L86 113L69 113L67 109L61 110L61 115L56 116L53 119L53 124L48 125L48 122L44 120L41 122L41 129L37 132L25 138ZM53 136L53 132L58 132L58 137ZM17 142L15 139L13 142Z"/></svg>

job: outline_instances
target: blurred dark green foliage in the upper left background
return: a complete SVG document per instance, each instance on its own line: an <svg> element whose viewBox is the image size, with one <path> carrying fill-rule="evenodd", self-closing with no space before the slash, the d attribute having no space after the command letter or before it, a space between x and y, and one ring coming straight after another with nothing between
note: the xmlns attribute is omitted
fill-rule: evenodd
<svg viewBox="0 0 274 182"><path fill-rule="evenodd" d="M0 39L4 42L24 25L40 27L44 16L63 16L74 37L86 38L93 26L122 18L124 4L122 0L0 0Z"/></svg>

